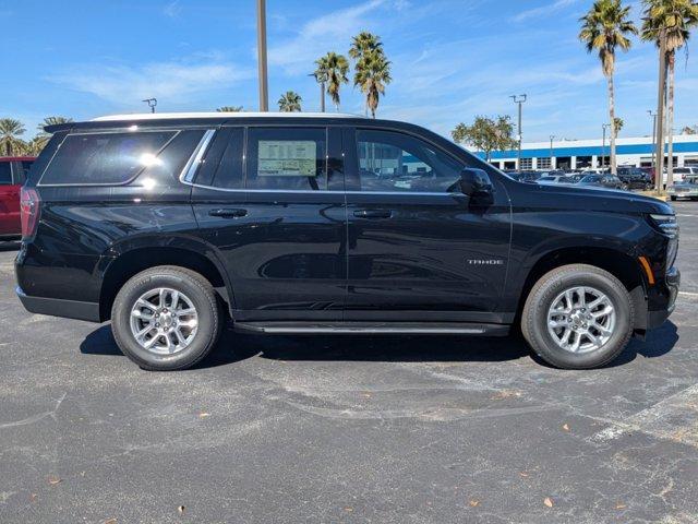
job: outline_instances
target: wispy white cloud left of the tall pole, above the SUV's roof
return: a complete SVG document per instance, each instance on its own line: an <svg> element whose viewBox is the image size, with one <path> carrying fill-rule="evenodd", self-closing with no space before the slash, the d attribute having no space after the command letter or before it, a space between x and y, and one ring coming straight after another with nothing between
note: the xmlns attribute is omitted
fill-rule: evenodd
<svg viewBox="0 0 698 524"><path fill-rule="evenodd" d="M172 103L185 102L196 93L227 87L253 75L254 70L241 69L217 59L204 60L197 56L197 60L191 62L154 62L140 67L82 66L49 80L121 105L125 100L152 96Z"/></svg>

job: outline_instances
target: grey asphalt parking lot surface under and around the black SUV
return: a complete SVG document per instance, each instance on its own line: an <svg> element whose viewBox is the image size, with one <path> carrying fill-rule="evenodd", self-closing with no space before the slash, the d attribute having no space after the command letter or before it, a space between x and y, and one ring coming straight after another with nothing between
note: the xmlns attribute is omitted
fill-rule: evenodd
<svg viewBox="0 0 698 524"><path fill-rule="evenodd" d="M676 312L593 371L516 338L228 332L146 372L107 324L26 313L0 247L0 522L698 523L698 203L675 209Z"/></svg>

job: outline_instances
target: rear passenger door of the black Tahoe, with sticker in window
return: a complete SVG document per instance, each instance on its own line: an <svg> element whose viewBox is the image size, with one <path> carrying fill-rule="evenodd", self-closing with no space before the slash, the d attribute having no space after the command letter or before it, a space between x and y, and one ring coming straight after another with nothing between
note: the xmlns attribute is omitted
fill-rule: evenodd
<svg viewBox="0 0 698 524"><path fill-rule="evenodd" d="M198 235L222 260L237 320L341 320L346 204L336 131L222 128L192 188Z"/></svg>

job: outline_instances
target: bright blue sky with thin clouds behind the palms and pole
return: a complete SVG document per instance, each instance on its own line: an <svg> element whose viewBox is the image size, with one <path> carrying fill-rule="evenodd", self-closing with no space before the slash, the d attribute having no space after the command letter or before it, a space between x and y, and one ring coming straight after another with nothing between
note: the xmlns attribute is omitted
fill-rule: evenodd
<svg viewBox="0 0 698 524"><path fill-rule="evenodd" d="M317 110L308 74L328 50L346 53L360 31L381 35L394 82L378 116L442 134L476 115L515 115L526 93L525 141L597 138L606 84L577 40L591 0L267 0L269 99L287 90ZM633 2L639 20L640 3ZM257 107L254 0L0 0L0 117L26 138L48 115L88 119L147 109ZM694 36L696 38L696 36ZM677 60L676 129L698 124L698 58ZM635 41L618 57L622 136L651 133L657 53ZM361 114L351 85L341 109Z"/></svg>

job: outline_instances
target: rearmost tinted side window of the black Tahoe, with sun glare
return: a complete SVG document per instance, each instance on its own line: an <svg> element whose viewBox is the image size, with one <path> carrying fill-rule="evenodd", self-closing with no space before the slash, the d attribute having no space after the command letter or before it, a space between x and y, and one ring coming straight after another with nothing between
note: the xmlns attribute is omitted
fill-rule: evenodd
<svg viewBox="0 0 698 524"><path fill-rule="evenodd" d="M40 184L122 184L158 163L177 131L70 134L41 177Z"/></svg>

